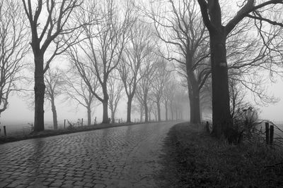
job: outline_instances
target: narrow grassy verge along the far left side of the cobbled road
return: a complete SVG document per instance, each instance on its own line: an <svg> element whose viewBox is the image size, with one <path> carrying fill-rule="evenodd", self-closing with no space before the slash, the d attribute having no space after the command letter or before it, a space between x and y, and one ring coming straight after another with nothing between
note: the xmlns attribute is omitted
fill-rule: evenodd
<svg viewBox="0 0 283 188"><path fill-rule="evenodd" d="M149 122L149 123L157 123L157 122ZM66 130L45 130L42 132L32 132L30 134L19 134L13 136L1 136L0 137L0 144L4 144L7 142L16 142L24 139L33 139L33 138L40 138L40 137L51 137L61 134L71 134L74 132L85 132L91 130L101 130L110 127L121 127L121 126L129 126L129 125L138 125L144 123L110 123L110 124L98 124L98 125L91 125L91 126L83 126L83 127L73 127L71 129L67 128Z"/></svg>

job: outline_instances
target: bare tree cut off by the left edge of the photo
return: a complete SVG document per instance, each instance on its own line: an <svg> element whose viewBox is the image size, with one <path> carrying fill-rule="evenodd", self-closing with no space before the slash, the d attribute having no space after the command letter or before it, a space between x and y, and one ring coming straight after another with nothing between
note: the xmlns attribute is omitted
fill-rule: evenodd
<svg viewBox="0 0 283 188"><path fill-rule="evenodd" d="M8 107L8 96L21 90L16 83L23 77L23 57L28 52L20 1L0 1L0 115Z"/></svg>

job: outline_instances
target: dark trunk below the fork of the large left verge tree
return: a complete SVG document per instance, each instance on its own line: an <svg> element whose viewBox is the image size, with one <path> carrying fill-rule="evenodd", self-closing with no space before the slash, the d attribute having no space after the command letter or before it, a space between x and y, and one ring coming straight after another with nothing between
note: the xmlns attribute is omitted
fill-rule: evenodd
<svg viewBox="0 0 283 188"><path fill-rule="evenodd" d="M45 82L43 73L43 55L35 55L35 132L45 130L44 127L44 98Z"/></svg>

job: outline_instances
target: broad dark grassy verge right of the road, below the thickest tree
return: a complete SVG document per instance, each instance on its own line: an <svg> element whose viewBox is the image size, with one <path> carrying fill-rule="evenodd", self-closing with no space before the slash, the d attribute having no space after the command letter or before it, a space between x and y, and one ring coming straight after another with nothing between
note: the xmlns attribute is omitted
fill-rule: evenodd
<svg viewBox="0 0 283 188"><path fill-rule="evenodd" d="M283 152L265 144L219 141L188 123L164 145L163 187L283 187ZM274 165L274 166L272 166Z"/></svg>

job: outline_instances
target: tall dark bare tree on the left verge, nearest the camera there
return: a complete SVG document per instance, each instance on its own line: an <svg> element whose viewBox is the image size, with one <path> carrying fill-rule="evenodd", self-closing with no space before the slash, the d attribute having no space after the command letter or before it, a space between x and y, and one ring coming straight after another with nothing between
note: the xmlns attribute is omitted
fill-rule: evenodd
<svg viewBox="0 0 283 188"><path fill-rule="evenodd" d="M71 15L78 8L81 0L22 0L25 14L30 23L31 42L35 62L35 132L42 131L44 127L44 99L45 82L44 74L50 66L53 58L62 54L71 44L76 29L80 23L71 20ZM68 21L71 20L71 24ZM69 35L68 38L67 35ZM64 40L64 42L62 42ZM68 41L68 42L66 42ZM51 55L46 59L46 51L53 46Z"/></svg>

